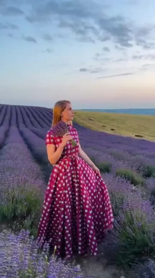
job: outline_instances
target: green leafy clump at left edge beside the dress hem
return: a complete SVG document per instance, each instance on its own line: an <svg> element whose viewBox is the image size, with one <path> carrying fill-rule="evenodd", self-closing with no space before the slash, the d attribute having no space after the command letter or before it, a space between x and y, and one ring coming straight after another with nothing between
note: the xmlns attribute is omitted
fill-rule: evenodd
<svg viewBox="0 0 155 278"><path fill-rule="evenodd" d="M15 232L29 230L36 236L40 206L40 195L30 188L5 190L0 202L0 224Z"/></svg>

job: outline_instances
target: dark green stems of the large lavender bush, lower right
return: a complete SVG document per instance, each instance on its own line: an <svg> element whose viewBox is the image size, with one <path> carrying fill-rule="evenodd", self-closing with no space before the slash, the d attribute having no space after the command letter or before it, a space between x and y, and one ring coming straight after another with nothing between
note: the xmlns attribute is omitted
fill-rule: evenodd
<svg viewBox="0 0 155 278"><path fill-rule="evenodd" d="M146 215L140 210L128 209L123 214L123 220L116 226L120 242L117 262L131 265L135 262L138 263L142 257L154 256L154 223L149 224Z"/></svg>

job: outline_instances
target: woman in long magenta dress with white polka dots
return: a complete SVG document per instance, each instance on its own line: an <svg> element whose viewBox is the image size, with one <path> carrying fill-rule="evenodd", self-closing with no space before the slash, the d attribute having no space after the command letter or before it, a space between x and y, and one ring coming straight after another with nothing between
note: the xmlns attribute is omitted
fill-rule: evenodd
<svg viewBox="0 0 155 278"><path fill-rule="evenodd" d="M61 120L73 120L70 101L56 102L53 108L55 126ZM45 194L38 237L50 241L61 256L73 253L98 254L98 243L113 228L113 213L108 190L99 169L81 149L77 130L68 125L63 137L47 132L46 148L54 165ZM77 146L73 146L70 140Z"/></svg>

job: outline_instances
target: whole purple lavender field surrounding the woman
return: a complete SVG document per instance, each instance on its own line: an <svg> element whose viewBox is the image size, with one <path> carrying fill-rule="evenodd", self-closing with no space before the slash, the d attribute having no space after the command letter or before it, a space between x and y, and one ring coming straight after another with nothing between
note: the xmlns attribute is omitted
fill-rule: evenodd
<svg viewBox="0 0 155 278"><path fill-rule="evenodd" d="M73 266L48 258L48 245L38 253L36 234L51 172L45 146L51 122L48 108L0 105L0 277L80 277ZM151 268L155 142L73 124L111 195L115 228L100 251L121 266L151 259Z"/></svg>

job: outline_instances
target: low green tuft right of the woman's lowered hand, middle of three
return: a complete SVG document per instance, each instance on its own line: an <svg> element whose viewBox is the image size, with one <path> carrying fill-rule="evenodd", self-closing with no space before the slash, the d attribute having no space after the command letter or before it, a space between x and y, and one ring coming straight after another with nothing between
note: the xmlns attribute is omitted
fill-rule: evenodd
<svg viewBox="0 0 155 278"><path fill-rule="evenodd" d="M120 176L121 178L125 178L131 182L134 186L137 185L144 185L144 180L141 178L137 173L126 170L126 169L117 169L116 175Z"/></svg>

